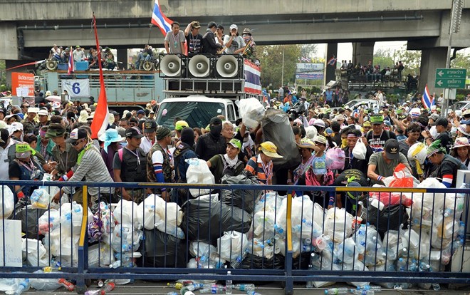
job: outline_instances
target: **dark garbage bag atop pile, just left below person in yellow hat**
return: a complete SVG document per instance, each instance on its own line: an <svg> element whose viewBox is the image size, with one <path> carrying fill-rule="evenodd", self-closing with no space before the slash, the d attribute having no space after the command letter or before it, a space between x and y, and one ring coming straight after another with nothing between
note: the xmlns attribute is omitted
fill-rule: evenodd
<svg viewBox="0 0 470 295"><path fill-rule="evenodd" d="M221 183L227 185L259 185L256 177L247 177L246 175L224 176ZM251 214L261 192L261 190L221 190L220 200L226 205L239 207Z"/></svg>

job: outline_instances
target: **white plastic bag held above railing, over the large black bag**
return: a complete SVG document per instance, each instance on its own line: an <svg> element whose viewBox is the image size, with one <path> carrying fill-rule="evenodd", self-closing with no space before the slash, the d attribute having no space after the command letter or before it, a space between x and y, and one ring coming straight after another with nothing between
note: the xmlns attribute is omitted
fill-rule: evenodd
<svg viewBox="0 0 470 295"><path fill-rule="evenodd" d="M186 179L188 185L214 185L215 178L212 175L207 162L202 159L187 159L185 160L189 163L188 170L186 172ZM211 192L211 189L189 189L189 192L193 197L198 197L199 195L207 195Z"/></svg>

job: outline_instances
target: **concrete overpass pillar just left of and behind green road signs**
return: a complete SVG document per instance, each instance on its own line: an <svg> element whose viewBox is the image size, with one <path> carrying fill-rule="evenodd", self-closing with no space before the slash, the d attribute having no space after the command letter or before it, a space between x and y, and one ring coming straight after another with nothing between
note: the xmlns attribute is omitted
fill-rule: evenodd
<svg viewBox="0 0 470 295"><path fill-rule="evenodd" d="M436 82L436 69L446 67L447 48L437 47L422 49L421 51L421 68L419 68L419 85L418 91L423 92L427 84L429 93L439 94L443 92L442 88L434 88Z"/></svg>

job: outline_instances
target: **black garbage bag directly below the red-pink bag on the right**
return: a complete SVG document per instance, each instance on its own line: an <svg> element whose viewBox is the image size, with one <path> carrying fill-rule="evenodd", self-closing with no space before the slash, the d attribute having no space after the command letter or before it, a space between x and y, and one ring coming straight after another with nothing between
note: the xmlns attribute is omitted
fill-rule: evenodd
<svg viewBox="0 0 470 295"><path fill-rule="evenodd" d="M385 206L380 210L368 202L368 200L365 201L367 209L362 217L365 217L364 222L375 226L382 239L387 230L398 230L400 224L407 224L409 217L403 205Z"/></svg>

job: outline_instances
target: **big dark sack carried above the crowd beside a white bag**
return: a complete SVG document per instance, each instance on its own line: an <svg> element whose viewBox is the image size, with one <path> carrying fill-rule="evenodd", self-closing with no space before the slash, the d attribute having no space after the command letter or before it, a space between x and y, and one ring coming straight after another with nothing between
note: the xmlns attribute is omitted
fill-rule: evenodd
<svg viewBox="0 0 470 295"><path fill-rule="evenodd" d="M282 110L268 109L261 120L263 141L271 141L282 158L273 159L274 171L297 167L301 163L291 123Z"/></svg>

